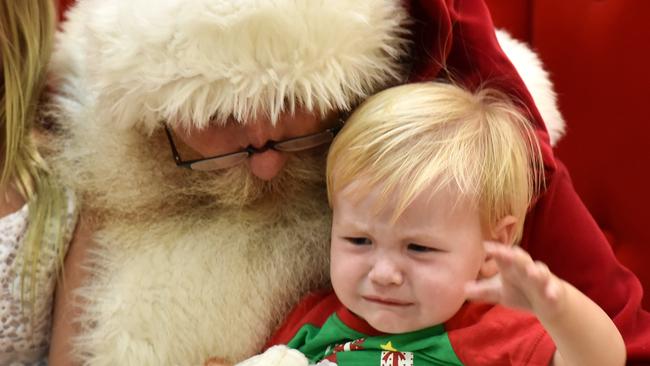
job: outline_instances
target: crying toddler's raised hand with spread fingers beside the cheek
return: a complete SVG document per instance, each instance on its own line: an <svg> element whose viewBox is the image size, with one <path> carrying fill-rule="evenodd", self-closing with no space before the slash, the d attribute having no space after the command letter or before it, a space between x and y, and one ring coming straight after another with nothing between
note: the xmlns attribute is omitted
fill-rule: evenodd
<svg viewBox="0 0 650 366"><path fill-rule="evenodd" d="M468 283L465 293L469 300L529 310L538 317L553 317L558 312L565 283L544 263L533 261L518 246L486 242L485 251L495 261L499 273Z"/></svg>

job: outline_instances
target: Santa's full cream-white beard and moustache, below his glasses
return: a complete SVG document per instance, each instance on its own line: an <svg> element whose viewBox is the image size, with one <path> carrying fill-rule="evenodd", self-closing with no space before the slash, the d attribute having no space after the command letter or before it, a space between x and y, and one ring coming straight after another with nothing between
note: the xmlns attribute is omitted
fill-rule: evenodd
<svg viewBox="0 0 650 366"><path fill-rule="evenodd" d="M265 183L245 165L178 168L162 131L88 120L68 121L52 161L101 228L80 291L83 364L238 361L328 284L324 150L291 155Z"/></svg>

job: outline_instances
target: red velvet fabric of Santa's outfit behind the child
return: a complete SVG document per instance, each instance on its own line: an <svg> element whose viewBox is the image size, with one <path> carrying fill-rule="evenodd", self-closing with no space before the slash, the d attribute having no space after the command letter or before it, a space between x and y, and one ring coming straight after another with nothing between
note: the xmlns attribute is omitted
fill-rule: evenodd
<svg viewBox="0 0 650 366"><path fill-rule="evenodd" d="M498 46L486 4L482 0L407 4L415 19L411 80L453 77L469 87L498 87L530 112L543 148L547 187L526 218L522 246L614 319L630 364L650 363L650 313L641 307L641 284L617 261L566 168L553 156L540 114Z"/></svg>

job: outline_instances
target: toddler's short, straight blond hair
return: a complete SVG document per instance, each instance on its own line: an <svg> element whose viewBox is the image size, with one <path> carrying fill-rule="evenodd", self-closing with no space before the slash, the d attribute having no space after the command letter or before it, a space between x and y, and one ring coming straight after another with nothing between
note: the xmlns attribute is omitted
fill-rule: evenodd
<svg viewBox="0 0 650 366"><path fill-rule="evenodd" d="M421 192L451 187L478 205L486 228L515 216L516 242L543 184L543 161L534 128L504 93L427 82L380 92L345 123L327 160L330 204L359 179L359 194L382 187L380 205L399 194L394 219Z"/></svg>

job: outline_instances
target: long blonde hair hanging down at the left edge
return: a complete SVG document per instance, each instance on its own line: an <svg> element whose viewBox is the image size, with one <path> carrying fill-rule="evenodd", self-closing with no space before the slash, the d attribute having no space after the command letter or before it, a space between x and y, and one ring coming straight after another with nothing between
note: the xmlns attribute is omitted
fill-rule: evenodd
<svg viewBox="0 0 650 366"><path fill-rule="evenodd" d="M67 200L40 156L32 128L45 85L56 15L52 0L0 2L0 185L13 186L29 206L22 261L22 298L35 281L44 250L54 249L63 261Z"/></svg>

